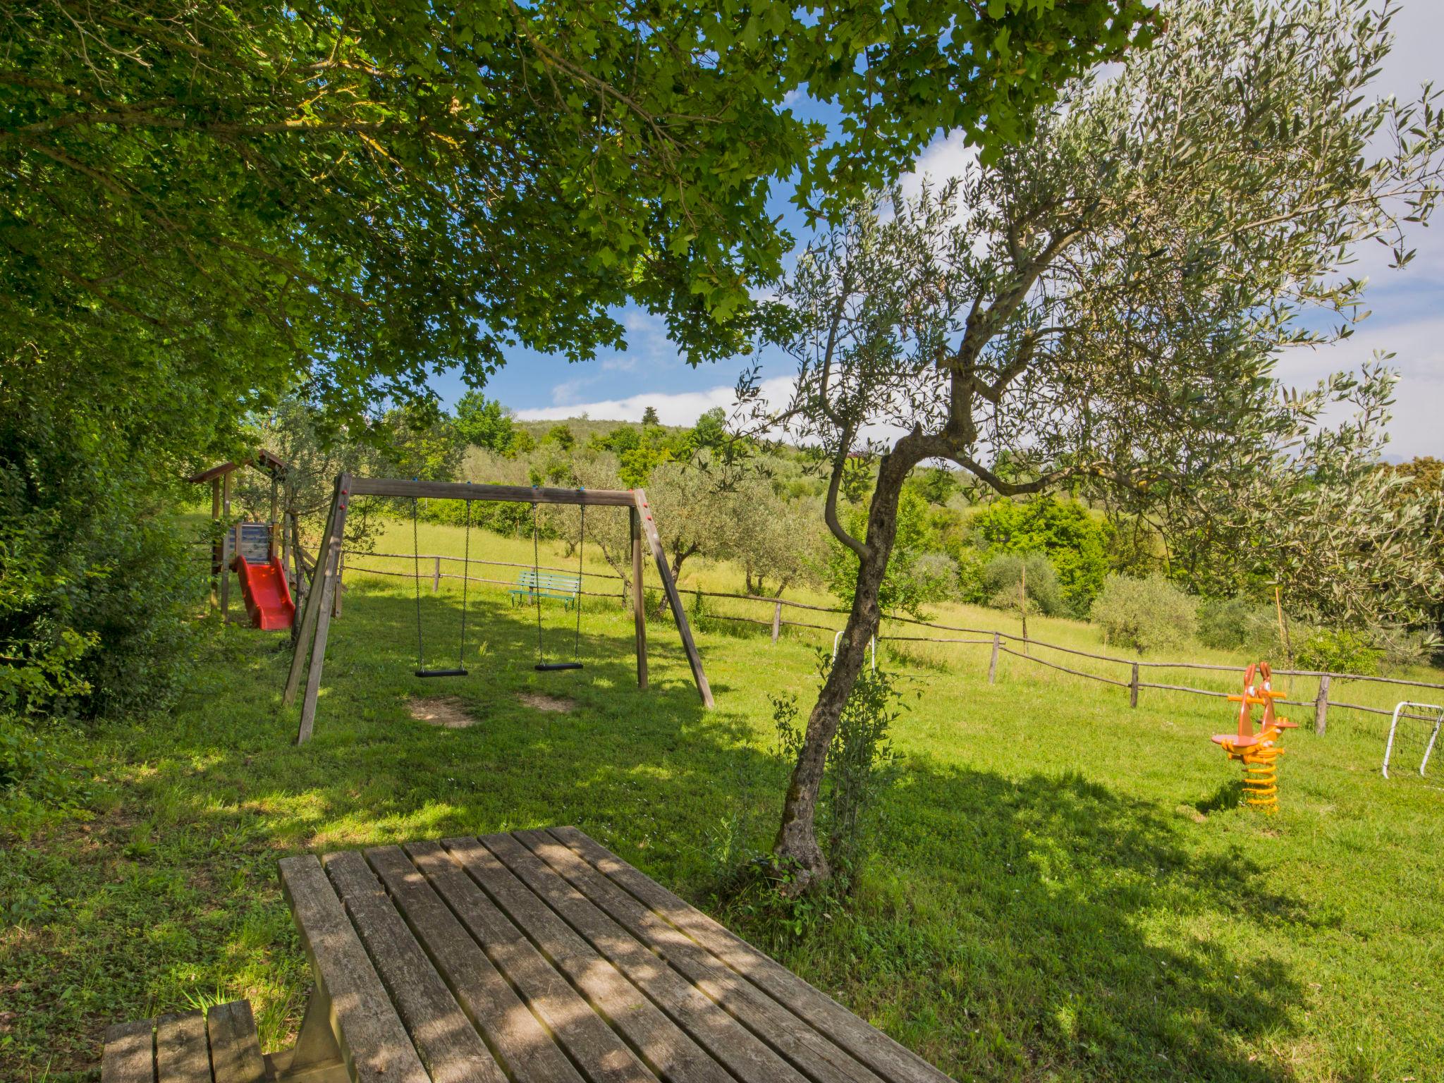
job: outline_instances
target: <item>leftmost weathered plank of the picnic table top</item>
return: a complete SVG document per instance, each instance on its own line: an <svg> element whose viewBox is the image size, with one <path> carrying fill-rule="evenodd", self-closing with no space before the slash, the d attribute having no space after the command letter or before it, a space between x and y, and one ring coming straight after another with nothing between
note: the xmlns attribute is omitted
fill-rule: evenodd
<svg viewBox="0 0 1444 1083"><path fill-rule="evenodd" d="M280 885L331 1030L355 1083L430 1083L386 986L313 855L283 858Z"/></svg>

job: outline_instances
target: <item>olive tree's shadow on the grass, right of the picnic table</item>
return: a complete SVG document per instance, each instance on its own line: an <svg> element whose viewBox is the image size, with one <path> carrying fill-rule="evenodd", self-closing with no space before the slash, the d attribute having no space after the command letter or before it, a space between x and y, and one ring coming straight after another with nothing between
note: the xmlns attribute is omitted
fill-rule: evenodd
<svg viewBox="0 0 1444 1083"><path fill-rule="evenodd" d="M1302 995L1268 934L1310 918L1253 862L1077 774L911 762L885 822L851 913L726 918L957 1079L1292 1077L1256 1057Z"/></svg>

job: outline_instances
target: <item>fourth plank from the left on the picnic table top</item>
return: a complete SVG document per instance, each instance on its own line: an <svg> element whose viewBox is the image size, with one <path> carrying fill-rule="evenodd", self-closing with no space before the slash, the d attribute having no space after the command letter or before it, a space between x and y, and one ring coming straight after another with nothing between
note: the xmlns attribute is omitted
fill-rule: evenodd
<svg viewBox="0 0 1444 1083"><path fill-rule="evenodd" d="M526 934L507 920L451 853L435 842L410 843L406 852L592 1083L656 1083L657 1077ZM593 960L606 966L595 956ZM592 978L593 986L599 986L605 975ZM635 991L631 995L641 999Z"/></svg>

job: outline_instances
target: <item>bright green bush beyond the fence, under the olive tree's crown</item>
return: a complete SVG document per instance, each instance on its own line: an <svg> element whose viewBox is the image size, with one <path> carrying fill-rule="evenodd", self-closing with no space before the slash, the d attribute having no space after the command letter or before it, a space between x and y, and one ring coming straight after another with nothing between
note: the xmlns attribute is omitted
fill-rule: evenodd
<svg viewBox="0 0 1444 1083"><path fill-rule="evenodd" d="M1086 615L1103 589L1113 529L1089 516L1077 501L1053 495L995 500L973 516L970 526L988 549L1044 553L1074 615ZM1031 566L1028 573L1032 575Z"/></svg>

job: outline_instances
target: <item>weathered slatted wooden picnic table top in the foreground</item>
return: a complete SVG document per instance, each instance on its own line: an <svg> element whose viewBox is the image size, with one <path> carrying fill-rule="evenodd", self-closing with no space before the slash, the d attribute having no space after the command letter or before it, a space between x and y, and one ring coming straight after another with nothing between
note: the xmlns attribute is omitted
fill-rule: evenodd
<svg viewBox="0 0 1444 1083"><path fill-rule="evenodd" d="M286 858L355 1083L941 1083L575 827Z"/></svg>

